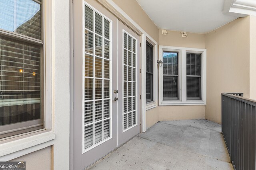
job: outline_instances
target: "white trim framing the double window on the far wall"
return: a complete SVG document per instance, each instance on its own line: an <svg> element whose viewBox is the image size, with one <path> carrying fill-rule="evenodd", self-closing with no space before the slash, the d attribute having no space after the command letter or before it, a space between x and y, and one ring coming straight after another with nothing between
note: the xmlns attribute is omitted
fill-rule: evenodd
<svg viewBox="0 0 256 170"><path fill-rule="evenodd" d="M163 51L179 52L179 100L163 100L163 67L159 67L159 106L172 105L206 105L206 49L186 47L159 46L159 60L163 61ZM202 54L202 99L186 100L186 53Z"/></svg>

